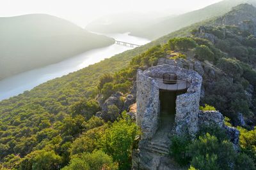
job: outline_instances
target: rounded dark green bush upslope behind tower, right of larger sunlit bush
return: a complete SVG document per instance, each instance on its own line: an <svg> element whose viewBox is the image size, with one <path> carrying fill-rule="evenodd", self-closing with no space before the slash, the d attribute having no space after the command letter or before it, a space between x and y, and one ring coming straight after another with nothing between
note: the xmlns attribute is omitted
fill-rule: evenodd
<svg viewBox="0 0 256 170"><path fill-rule="evenodd" d="M210 50L208 46L200 45L196 46L196 58L198 60L209 60L214 61L214 53Z"/></svg>

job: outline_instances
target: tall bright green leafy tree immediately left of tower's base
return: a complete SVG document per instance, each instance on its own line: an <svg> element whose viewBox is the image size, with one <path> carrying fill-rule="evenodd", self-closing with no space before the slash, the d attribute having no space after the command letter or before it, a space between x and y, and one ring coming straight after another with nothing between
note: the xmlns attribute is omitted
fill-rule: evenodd
<svg viewBox="0 0 256 170"><path fill-rule="evenodd" d="M118 162L120 169L129 169L131 168L132 145L138 129L131 118L125 114L123 117L106 129L102 138L102 150Z"/></svg>

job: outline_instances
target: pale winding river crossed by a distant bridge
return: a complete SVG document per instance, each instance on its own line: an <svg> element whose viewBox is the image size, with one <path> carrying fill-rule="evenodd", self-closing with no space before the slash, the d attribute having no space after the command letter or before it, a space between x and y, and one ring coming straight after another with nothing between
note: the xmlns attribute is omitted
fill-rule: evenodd
<svg viewBox="0 0 256 170"><path fill-rule="evenodd" d="M129 36L128 33L108 34L107 36L119 41L126 41L138 45L145 45L146 43L149 43L148 39ZM107 59L113 55L130 49L132 48L122 45L111 45L104 48L97 48L56 64L40 67L38 69L33 69L31 71L26 71L9 78L5 78L0 81L0 101L12 96L17 96L18 94L21 94L26 90L31 90L37 85L48 80L72 73L91 64L95 64L100 60Z"/></svg>

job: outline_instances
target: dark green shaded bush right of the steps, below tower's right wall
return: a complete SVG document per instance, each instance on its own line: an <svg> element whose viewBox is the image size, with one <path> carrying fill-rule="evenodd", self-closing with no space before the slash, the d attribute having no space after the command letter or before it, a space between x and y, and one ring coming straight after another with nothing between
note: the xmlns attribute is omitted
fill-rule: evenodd
<svg viewBox="0 0 256 170"><path fill-rule="evenodd" d="M188 165L191 157L187 154L191 139L188 136L172 136L170 146L170 156L182 166Z"/></svg>

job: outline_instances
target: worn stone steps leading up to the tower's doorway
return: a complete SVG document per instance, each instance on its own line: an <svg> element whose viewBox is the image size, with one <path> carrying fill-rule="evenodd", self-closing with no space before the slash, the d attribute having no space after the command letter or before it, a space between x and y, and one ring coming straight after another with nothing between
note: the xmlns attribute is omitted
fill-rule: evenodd
<svg viewBox="0 0 256 170"><path fill-rule="evenodd" d="M169 155L169 147L163 143L148 142L148 145L144 147L149 152L157 153L159 155Z"/></svg>

